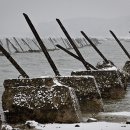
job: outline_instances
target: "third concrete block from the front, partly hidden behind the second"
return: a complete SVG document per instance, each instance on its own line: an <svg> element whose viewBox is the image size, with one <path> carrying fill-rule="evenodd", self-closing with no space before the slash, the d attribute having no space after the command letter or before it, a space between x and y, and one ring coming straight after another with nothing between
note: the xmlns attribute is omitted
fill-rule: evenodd
<svg viewBox="0 0 130 130"><path fill-rule="evenodd" d="M122 83L118 70L92 70L76 71L71 75L92 75L101 91L102 98L121 98L125 93L125 86Z"/></svg>

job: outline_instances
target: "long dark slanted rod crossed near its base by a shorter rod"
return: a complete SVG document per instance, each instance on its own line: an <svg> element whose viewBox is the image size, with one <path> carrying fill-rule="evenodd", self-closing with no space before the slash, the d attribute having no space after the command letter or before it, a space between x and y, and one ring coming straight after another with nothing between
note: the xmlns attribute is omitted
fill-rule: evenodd
<svg viewBox="0 0 130 130"><path fill-rule="evenodd" d="M81 59L80 61L83 63L84 67L87 70L91 70L89 65L86 64L85 59L83 58L82 54L80 53L80 51L78 50L78 48L76 47L74 41L72 40L72 38L70 37L70 35L68 34L67 30L65 29L65 27L63 26L63 24L61 23L61 21L59 19L56 19L56 21L58 22L59 26L61 27L62 31L64 32L65 36L67 37L67 39L69 40L70 44L72 45L72 47L74 48L75 52L77 53L77 55L79 56L79 58Z"/></svg>

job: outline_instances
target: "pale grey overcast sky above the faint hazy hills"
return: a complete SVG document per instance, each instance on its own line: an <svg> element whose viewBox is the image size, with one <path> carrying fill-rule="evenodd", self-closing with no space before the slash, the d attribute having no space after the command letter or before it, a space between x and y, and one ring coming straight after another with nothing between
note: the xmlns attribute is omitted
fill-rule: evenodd
<svg viewBox="0 0 130 130"><path fill-rule="evenodd" d="M0 0L0 37L26 34L29 28L22 13L35 25L56 18L130 17L130 0Z"/></svg>

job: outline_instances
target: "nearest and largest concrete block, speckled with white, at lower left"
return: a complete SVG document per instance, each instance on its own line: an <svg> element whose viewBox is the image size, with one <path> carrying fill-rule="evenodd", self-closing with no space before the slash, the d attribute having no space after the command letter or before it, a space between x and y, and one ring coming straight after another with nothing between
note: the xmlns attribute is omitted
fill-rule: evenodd
<svg viewBox="0 0 130 130"><path fill-rule="evenodd" d="M2 106L8 123L81 121L74 89L56 85L52 78L5 80L4 87Z"/></svg>

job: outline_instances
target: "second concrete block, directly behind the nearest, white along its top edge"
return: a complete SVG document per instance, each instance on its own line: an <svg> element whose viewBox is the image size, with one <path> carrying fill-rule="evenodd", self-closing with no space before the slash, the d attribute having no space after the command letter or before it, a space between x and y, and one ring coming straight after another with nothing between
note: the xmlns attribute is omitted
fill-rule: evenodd
<svg viewBox="0 0 130 130"><path fill-rule="evenodd" d="M100 90L93 76L59 76L61 84L75 89L82 113L96 113L103 111Z"/></svg>

